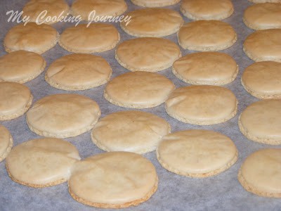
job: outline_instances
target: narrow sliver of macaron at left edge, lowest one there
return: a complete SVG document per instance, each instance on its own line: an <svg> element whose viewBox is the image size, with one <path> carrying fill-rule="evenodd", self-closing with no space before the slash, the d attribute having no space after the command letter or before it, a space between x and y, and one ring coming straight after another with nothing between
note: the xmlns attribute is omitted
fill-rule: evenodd
<svg viewBox="0 0 281 211"><path fill-rule="evenodd" d="M10 132L0 124L0 162L11 152L12 146L13 138Z"/></svg>

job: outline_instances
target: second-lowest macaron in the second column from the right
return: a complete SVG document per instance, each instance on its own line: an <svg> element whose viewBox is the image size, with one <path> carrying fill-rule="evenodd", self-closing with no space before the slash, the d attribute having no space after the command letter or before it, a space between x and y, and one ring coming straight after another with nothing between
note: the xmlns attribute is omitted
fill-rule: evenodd
<svg viewBox="0 0 281 211"><path fill-rule="evenodd" d="M224 87L198 85L180 87L166 100L166 113L189 124L226 122L237 114L237 99Z"/></svg>

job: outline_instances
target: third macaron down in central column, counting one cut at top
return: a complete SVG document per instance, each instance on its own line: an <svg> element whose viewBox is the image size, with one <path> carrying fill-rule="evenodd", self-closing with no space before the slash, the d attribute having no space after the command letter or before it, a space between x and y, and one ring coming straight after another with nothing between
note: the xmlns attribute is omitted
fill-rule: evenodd
<svg viewBox="0 0 281 211"><path fill-rule="evenodd" d="M159 37L126 40L115 52L118 63L131 71L165 70L180 57L181 50L173 41Z"/></svg>

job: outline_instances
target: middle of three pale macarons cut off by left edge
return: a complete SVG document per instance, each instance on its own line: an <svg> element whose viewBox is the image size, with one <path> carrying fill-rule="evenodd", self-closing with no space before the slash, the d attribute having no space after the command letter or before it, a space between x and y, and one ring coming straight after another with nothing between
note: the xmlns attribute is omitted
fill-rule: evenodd
<svg viewBox="0 0 281 211"><path fill-rule="evenodd" d="M0 82L0 120L13 120L31 106L33 96L28 87L15 82Z"/></svg>

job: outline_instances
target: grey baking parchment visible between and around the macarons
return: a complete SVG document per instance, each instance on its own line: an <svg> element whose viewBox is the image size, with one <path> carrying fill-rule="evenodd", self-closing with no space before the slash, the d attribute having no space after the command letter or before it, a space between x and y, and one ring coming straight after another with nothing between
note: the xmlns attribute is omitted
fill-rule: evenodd
<svg viewBox="0 0 281 211"><path fill-rule="evenodd" d="M17 25L18 23L8 23L7 11L21 11L27 0L1 0L0 1L0 56L6 54L3 47L3 41L5 34L8 30ZM72 1L67 1L70 5ZM131 4L131 1L127 1L129 6L128 11L140 8ZM256 98L249 95L240 84L241 74L248 65L254 63L252 60L245 56L242 51L242 43L248 34L253 32L242 23L243 11L247 6L250 6L247 0L235 0L233 1L235 12L230 18L223 21L230 23L237 32L237 42L221 52L228 53L235 58L239 65L240 72L231 84L226 85L228 89L234 91L239 101L238 115L246 108L250 103L257 101ZM175 6L168 6L167 8L174 9L179 12L180 4ZM185 22L189 22L188 18L184 18ZM59 33L63 32L65 28L74 25L74 23L56 23L53 25ZM114 24L119 33L121 34L121 41L133 38L129 34L126 34L119 27L119 24ZM176 34L172 34L166 37L177 43ZM181 49L183 56L192 53L192 51ZM47 62L47 67L57 58L70 54L70 52L62 49L58 44L51 50L43 54ZM128 70L122 68L121 65L115 60L115 49L106 51L104 53L96 53L103 56L111 65L113 74L112 78L120 75ZM184 87L188 84L181 82L171 72L171 68L158 72L161 75L165 75L171 79L176 87ZM105 85L88 89L86 91L63 91L50 87L44 81L44 73L39 77L26 83L27 87L30 87L32 94L34 95L34 102L49 94L59 93L77 93L84 96L93 98L100 106L101 117L119 110L129 110L121 108L107 102L103 98L103 89ZM205 179L195 179L183 177L171 172L166 171L157 162L155 152L145 154L145 158L152 161L157 169L159 177L159 186L157 192L145 203L138 205L137 207L130 207L127 210L281 210L281 200L276 198L263 198L254 194L248 193L240 186L237 181L237 172L242 164L242 161L247 156L261 148L280 148L280 146L269 146L266 144L255 143L246 139L238 129L237 120L238 115L232 120L223 124L215 124L211 126L196 126L192 124L185 124L178 122L172 117L166 114L164 105L156 108L143 109L144 111L155 113L160 117L163 117L171 124L172 132L183 129L211 129L216 132L221 132L229 136L235 142L239 151L239 158L233 167L229 170L218 174L215 177L209 177ZM23 141L30 139L37 139L40 136L34 134L28 129L25 122L25 115L18 117L15 120L0 122L6 126L14 139L14 145L18 145ZM90 132L81 134L80 136L66 139L77 146L81 158L84 159L90 155L96 155L102 153L98 147L96 147L90 137ZM270 179L270 178L269 178ZM60 184L49 188L30 188L17 184L8 177L5 169L5 162L0 163L0 210L102 210L94 207L89 207L78 203L72 199L67 190L67 183Z"/></svg>

